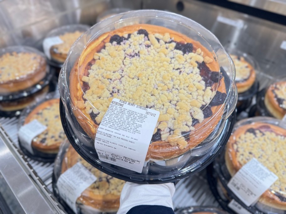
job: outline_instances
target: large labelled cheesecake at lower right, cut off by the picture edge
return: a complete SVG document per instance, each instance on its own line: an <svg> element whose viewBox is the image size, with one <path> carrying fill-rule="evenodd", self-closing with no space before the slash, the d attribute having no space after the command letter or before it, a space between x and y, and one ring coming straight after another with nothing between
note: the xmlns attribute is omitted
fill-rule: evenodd
<svg viewBox="0 0 286 214"><path fill-rule="evenodd" d="M263 193L259 202L286 210L286 130L262 122L238 127L230 136L225 152L225 163L230 175L233 176L252 158L278 176L278 180Z"/></svg>

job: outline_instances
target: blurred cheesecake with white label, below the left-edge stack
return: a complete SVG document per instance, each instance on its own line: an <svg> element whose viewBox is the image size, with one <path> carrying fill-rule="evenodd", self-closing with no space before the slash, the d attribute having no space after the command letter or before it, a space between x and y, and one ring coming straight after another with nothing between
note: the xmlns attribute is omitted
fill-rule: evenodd
<svg viewBox="0 0 286 214"><path fill-rule="evenodd" d="M47 129L32 141L33 150L46 154L56 154L60 144L66 139L61 125L60 99L50 99L32 110L26 117L24 125L33 120L38 120Z"/></svg>

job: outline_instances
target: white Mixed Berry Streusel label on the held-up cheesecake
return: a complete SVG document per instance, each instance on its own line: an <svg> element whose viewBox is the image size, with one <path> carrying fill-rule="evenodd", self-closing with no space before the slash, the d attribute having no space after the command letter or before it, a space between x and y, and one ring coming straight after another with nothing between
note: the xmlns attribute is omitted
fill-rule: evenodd
<svg viewBox="0 0 286 214"><path fill-rule="evenodd" d="M159 114L114 98L95 136L99 160L141 173Z"/></svg>

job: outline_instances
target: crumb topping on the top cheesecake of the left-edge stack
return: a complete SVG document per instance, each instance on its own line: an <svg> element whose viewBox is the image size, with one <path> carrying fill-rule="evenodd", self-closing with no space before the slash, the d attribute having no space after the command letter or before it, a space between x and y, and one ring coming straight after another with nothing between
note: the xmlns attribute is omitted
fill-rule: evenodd
<svg viewBox="0 0 286 214"><path fill-rule="evenodd" d="M12 52L0 56L0 84L25 78L40 68L45 59L36 53Z"/></svg>

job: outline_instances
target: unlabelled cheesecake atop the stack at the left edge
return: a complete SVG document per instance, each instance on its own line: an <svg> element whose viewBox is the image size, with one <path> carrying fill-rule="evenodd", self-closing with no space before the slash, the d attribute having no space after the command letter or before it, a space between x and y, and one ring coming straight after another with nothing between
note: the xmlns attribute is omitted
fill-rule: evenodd
<svg viewBox="0 0 286 214"><path fill-rule="evenodd" d="M46 60L37 53L11 52L0 56L0 94L27 89L46 75Z"/></svg>

